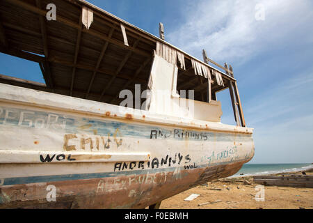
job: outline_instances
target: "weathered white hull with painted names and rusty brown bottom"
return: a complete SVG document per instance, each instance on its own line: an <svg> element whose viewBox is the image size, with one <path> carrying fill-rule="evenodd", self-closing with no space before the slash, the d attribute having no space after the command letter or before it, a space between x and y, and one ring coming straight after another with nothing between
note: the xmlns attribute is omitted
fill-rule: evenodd
<svg viewBox="0 0 313 223"><path fill-rule="evenodd" d="M145 208L255 153L250 128L0 86L0 208Z"/></svg>

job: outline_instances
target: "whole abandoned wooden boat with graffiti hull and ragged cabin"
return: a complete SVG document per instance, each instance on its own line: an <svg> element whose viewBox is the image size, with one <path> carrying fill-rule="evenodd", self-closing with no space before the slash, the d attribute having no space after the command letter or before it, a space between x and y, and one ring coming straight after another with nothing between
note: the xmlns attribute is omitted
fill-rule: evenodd
<svg viewBox="0 0 313 223"><path fill-rule="evenodd" d="M45 79L0 75L0 208L158 208L252 159L232 68L160 27L157 38L81 0L0 2L0 52ZM227 89L236 125L220 123Z"/></svg>

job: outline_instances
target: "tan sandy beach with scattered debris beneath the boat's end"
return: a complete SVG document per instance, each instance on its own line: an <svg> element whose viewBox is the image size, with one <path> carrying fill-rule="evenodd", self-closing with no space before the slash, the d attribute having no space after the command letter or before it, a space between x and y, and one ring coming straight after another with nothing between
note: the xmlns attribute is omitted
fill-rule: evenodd
<svg viewBox="0 0 313 223"><path fill-rule="evenodd" d="M284 173L286 175L287 173ZM292 173L301 174L301 172ZM313 175L312 170L307 175ZM275 174L281 176L281 174ZM248 180L251 185L245 185ZM253 178L224 178L200 185L162 201L161 209L313 209L313 188L264 187L264 201L256 201ZM200 194L193 201L184 201L191 194ZM199 206L200 203L208 203Z"/></svg>

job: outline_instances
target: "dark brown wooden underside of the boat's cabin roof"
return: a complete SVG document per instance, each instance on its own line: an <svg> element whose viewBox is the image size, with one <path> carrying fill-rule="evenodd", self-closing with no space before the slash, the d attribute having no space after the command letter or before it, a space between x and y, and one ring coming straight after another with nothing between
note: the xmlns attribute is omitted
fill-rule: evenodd
<svg viewBox="0 0 313 223"><path fill-rule="evenodd" d="M56 21L46 20L49 3L56 5ZM83 7L93 10L89 29L81 22ZM129 46L124 44L120 24L125 26ZM122 89L134 91L134 84L141 84L142 91L147 89L157 41L177 49L86 1L1 0L0 52L39 63L46 85L3 75L0 82L118 105ZM177 88L207 91L205 82L199 84L191 59L208 65L182 53L186 70L179 68L182 78ZM213 84L213 92L236 82L227 75L232 72L226 71L218 70L225 86Z"/></svg>

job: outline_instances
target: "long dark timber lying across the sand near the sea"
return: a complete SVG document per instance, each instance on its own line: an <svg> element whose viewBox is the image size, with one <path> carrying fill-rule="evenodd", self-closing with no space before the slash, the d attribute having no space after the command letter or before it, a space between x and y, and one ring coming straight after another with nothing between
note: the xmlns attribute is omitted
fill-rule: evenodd
<svg viewBox="0 0 313 223"><path fill-rule="evenodd" d="M291 175L291 176L254 176L255 183L268 186L284 187L310 187L313 188L313 176Z"/></svg>

